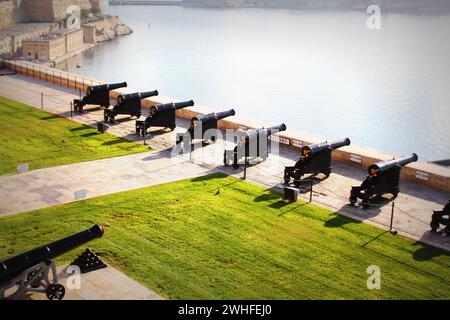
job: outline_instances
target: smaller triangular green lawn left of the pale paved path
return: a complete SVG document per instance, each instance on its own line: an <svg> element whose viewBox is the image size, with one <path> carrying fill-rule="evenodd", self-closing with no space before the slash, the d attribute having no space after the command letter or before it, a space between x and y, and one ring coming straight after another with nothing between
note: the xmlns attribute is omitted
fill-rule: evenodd
<svg viewBox="0 0 450 320"><path fill-rule="evenodd" d="M0 175L123 156L149 148L0 97Z"/></svg>

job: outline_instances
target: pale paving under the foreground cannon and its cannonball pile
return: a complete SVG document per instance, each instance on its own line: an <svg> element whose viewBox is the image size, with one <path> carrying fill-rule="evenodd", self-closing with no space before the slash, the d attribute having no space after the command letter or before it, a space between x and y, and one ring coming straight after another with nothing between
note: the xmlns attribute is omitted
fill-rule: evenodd
<svg viewBox="0 0 450 320"><path fill-rule="evenodd" d="M107 268L82 274L80 287L72 288L74 281L68 281L66 268L67 266L57 268L58 281L66 289L64 300L163 300L158 294L109 265ZM22 299L47 300L47 297L43 293L32 293Z"/></svg>

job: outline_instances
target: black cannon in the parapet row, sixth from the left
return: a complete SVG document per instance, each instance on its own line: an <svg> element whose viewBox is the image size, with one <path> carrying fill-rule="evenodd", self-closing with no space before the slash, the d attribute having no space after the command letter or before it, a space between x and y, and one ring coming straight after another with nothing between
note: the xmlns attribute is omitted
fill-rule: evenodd
<svg viewBox="0 0 450 320"><path fill-rule="evenodd" d="M295 166L285 167L284 182L290 183L293 179L294 184L298 187L302 176L305 174L322 173L328 178L331 174L331 153L333 150L350 145L350 143L350 139L345 138L302 147L300 159L295 163Z"/></svg>

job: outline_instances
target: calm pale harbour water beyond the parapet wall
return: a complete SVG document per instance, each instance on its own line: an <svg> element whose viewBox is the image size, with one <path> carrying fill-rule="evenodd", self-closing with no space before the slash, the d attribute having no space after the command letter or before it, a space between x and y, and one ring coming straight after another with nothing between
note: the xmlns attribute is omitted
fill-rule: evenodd
<svg viewBox="0 0 450 320"><path fill-rule="evenodd" d="M421 160L450 158L450 15L108 7L134 30L73 72Z"/></svg>

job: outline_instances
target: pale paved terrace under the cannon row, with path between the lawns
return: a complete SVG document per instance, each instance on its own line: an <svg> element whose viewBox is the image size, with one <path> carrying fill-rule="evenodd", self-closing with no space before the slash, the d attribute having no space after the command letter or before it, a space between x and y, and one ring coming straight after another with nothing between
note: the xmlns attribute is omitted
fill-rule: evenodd
<svg viewBox="0 0 450 320"><path fill-rule="evenodd" d="M41 92L44 93L44 110L70 117L70 101L78 97L77 91L22 75L0 77L0 95L5 97L40 108ZM101 110L73 117L74 121L91 126L96 126L101 119ZM121 116L117 120L118 123L112 125L109 132L129 140L142 141L134 134L134 121ZM184 132L188 125L182 119L178 119L177 123L179 127L175 132L158 131L147 136L147 143L155 151L0 177L0 214L71 202L74 201L74 192L78 190L87 190L86 197L89 198L218 171L242 177L241 169L223 167L223 149L232 144L222 139L197 149L190 156L171 157L176 132ZM271 155L266 162L250 167L247 179L281 192L284 166L294 164L297 158L298 151L281 146L279 155ZM359 185L365 176L363 169L334 163L330 178L314 184L313 203L387 229L391 214L389 201L381 200L368 210L348 205L350 187ZM306 183L300 196L303 200L309 200L308 185ZM405 181L402 181L401 189L395 200L394 229L410 238L449 250L450 237L429 231L432 211L442 209L449 194Z"/></svg>

